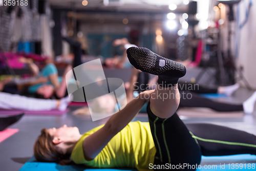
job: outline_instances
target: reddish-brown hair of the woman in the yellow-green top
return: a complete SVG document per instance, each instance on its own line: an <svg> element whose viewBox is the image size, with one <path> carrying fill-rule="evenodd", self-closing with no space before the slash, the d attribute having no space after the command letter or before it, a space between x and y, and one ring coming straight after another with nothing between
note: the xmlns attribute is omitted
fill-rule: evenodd
<svg viewBox="0 0 256 171"><path fill-rule="evenodd" d="M41 135L38 136L34 144L34 156L36 160L41 162L56 162L60 165L71 164L70 155L62 155L57 152L52 140L47 129L42 129Z"/></svg>

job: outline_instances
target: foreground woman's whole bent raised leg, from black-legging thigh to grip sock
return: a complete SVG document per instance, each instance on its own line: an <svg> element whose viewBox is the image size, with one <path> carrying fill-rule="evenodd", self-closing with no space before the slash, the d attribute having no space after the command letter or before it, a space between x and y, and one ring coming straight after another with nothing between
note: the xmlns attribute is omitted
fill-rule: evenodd
<svg viewBox="0 0 256 171"><path fill-rule="evenodd" d="M175 113L180 102L177 82L185 75L185 67L146 48L129 48L127 56L135 68L159 76L156 90L147 105L148 120L157 150L154 164L200 164L199 145ZM188 167L176 169L196 170Z"/></svg>

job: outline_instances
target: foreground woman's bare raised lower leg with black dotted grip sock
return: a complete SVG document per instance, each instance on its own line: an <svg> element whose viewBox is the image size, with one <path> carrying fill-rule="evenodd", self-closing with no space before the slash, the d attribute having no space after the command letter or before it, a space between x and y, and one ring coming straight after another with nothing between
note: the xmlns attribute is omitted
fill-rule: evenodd
<svg viewBox="0 0 256 171"><path fill-rule="evenodd" d="M159 118L171 117L180 102L177 82L186 74L186 68L146 48L131 47L127 49L127 57L136 69L158 75L158 85L151 96L150 108Z"/></svg>

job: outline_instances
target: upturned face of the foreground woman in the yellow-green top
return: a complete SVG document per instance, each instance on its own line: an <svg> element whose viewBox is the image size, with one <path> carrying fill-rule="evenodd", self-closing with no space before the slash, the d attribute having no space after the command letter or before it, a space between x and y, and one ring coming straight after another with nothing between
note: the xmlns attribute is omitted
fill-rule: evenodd
<svg viewBox="0 0 256 171"><path fill-rule="evenodd" d="M60 138L65 141L76 141L80 138L80 133L77 127L68 127L66 124L56 129L55 127L48 129L51 137ZM78 139L79 140L79 139Z"/></svg>

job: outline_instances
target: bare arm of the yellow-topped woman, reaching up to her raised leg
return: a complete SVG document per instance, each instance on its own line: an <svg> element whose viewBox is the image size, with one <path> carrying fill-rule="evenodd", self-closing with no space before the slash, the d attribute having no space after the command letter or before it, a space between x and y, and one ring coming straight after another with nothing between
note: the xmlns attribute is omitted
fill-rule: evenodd
<svg viewBox="0 0 256 171"><path fill-rule="evenodd" d="M146 99L144 99L145 94L151 95L153 92L151 90L141 93L138 98L128 103L123 110L112 115L101 129L84 139L84 158L93 160L105 145L137 115L146 102Z"/></svg>

